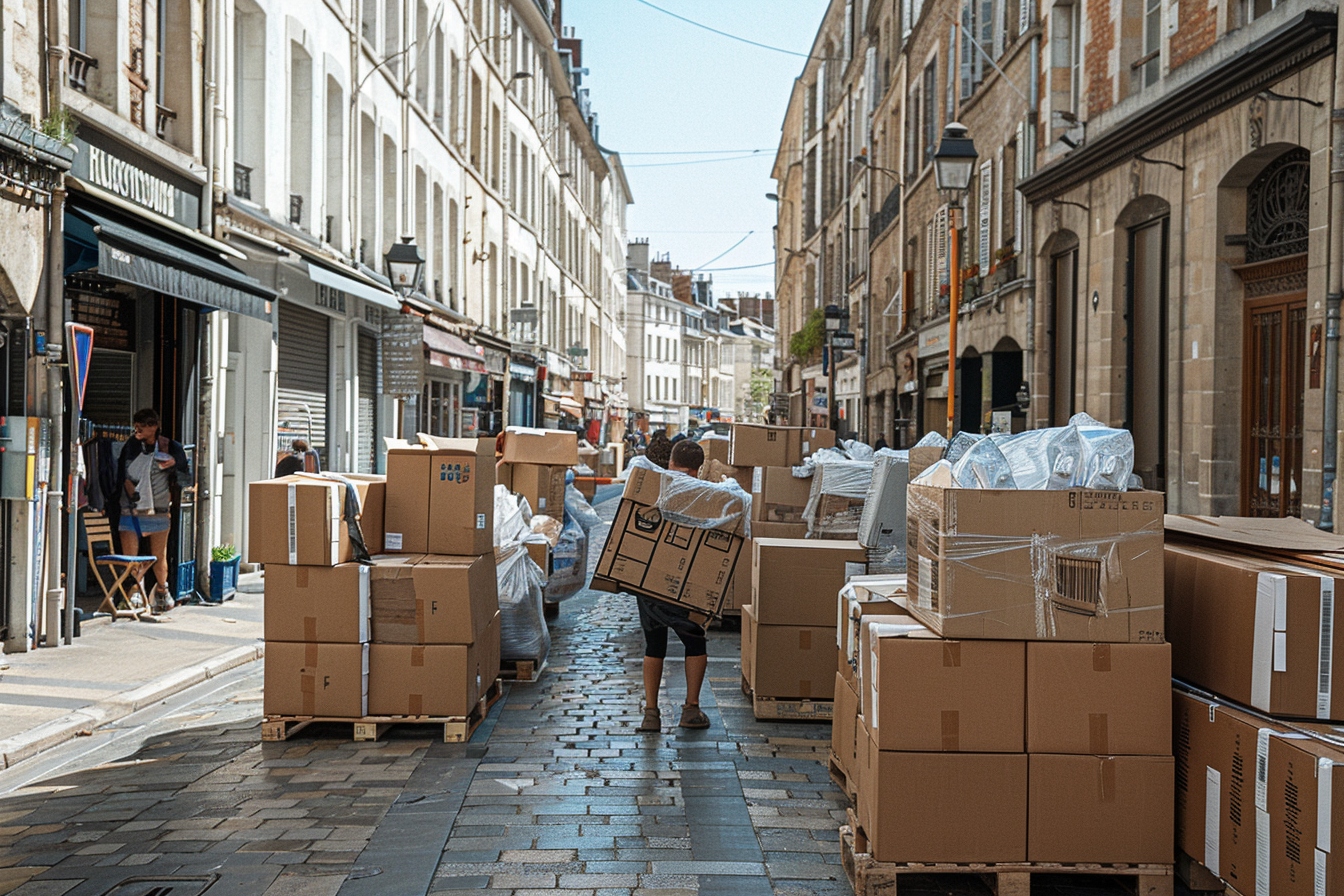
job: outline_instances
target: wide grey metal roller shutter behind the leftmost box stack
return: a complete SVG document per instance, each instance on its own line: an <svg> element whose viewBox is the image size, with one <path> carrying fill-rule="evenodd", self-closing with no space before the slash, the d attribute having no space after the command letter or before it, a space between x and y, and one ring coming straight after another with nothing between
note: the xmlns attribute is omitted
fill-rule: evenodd
<svg viewBox="0 0 1344 896"><path fill-rule="evenodd" d="M277 371L278 449L305 439L316 449L323 469L327 453L327 406L331 395L331 321L306 308L278 304L280 368Z"/></svg>

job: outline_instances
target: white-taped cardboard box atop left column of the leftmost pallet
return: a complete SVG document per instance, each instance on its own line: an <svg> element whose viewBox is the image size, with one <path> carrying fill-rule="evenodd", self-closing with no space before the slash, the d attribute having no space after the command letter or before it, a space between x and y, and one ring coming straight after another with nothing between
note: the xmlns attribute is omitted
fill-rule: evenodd
<svg viewBox="0 0 1344 896"><path fill-rule="evenodd" d="M247 562L333 567L355 559L343 510L345 486L308 476L247 486Z"/></svg>

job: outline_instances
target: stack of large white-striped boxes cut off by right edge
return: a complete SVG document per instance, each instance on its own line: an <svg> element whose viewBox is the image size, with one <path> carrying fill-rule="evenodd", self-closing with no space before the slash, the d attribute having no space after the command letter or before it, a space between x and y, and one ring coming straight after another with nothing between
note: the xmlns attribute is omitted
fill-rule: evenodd
<svg viewBox="0 0 1344 896"><path fill-rule="evenodd" d="M1168 517L1177 848L1241 893L1344 888L1344 548L1300 520Z"/></svg>

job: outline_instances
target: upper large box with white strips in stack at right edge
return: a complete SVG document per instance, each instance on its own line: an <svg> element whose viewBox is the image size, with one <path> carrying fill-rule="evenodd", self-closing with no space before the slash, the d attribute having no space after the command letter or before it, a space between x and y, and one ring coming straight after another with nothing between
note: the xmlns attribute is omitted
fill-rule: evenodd
<svg viewBox="0 0 1344 896"><path fill-rule="evenodd" d="M1344 720L1337 586L1305 567L1167 545L1173 673L1271 715Z"/></svg>

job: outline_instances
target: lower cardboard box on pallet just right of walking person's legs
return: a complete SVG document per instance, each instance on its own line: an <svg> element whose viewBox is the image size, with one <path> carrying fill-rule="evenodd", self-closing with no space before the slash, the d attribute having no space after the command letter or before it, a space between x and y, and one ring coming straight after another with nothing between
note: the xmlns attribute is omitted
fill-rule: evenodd
<svg viewBox="0 0 1344 896"><path fill-rule="evenodd" d="M766 625L759 617L753 626L755 656L750 681L757 697L835 699L836 650L831 626Z"/></svg>

